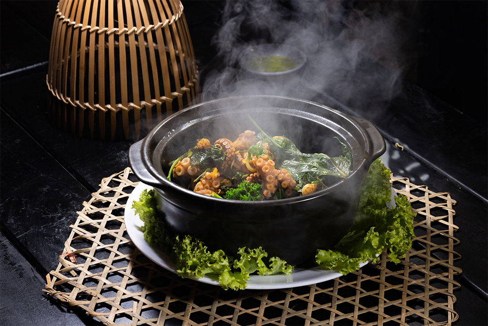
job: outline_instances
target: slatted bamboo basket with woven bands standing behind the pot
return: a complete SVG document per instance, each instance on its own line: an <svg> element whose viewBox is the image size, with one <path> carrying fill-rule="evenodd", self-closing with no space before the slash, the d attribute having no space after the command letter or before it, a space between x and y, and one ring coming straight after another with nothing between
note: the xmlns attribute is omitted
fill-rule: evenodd
<svg viewBox="0 0 488 326"><path fill-rule="evenodd" d="M49 115L80 136L140 138L200 93L180 0L60 0Z"/></svg>

